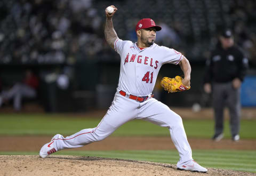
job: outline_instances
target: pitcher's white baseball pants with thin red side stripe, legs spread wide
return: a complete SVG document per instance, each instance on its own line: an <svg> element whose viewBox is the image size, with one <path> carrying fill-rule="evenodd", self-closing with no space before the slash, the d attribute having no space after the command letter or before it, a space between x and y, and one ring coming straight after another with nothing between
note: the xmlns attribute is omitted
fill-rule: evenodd
<svg viewBox="0 0 256 176"><path fill-rule="evenodd" d="M119 92L115 94L112 105L97 127L81 130L66 138L56 139L54 147L58 150L77 148L103 140L119 126L133 119L143 119L170 130L172 141L180 155L177 166L184 165L193 159L182 119L178 114L154 98L138 102L124 97Z"/></svg>

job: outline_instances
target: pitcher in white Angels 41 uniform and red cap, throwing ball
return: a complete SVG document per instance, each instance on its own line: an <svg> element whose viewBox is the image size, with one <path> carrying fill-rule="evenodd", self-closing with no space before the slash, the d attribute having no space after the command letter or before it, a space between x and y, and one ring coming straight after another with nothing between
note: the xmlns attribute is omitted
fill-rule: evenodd
<svg viewBox="0 0 256 176"><path fill-rule="evenodd" d="M191 67L180 52L155 44L156 31L161 30L152 19L141 19L135 28L137 42L118 38L112 18L117 11L114 5L106 8L105 38L121 58L120 76L117 91L106 115L97 127L81 130L69 137L54 135L40 150L39 156L46 156L68 148L82 147L108 137L119 126L132 119L143 119L159 126L167 127L171 139L179 151L179 170L207 172L192 158L191 148L182 124L181 117L162 102L153 98L159 69L165 63L179 65L184 78L163 78L161 85L168 92L181 92L190 88Z"/></svg>

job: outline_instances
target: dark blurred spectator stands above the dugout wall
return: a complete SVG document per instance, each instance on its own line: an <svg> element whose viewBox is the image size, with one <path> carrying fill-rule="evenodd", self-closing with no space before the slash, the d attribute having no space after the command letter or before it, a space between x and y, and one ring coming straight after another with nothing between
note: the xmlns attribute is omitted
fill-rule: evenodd
<svg viewBox="0 0 256 176"><path fill-rule="evenodd" d="M156 43L202 61L217 43L218 32L231 28L237 44L256 63L254 0L2 0L0 63L118 61L103 35L105 8L111 4L118 8L113 20L119 38L136 41L138 20L152 18L163 27Z"/></svg>

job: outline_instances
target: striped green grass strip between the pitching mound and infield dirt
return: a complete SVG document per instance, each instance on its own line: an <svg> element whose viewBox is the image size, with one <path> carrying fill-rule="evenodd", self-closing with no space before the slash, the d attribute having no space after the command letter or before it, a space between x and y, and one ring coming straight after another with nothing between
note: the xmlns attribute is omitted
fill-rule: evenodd
<svg viewBox="0 0 256 176"><path fill-rule="evenodd" d="M38 153L0 151L0 155L38 155ZM177 150L62 150L53 155L98 156L170 164L177 164L179 159ZM205 167L256 173L256 151L254 150L193 150L193 158Z"/></svg>

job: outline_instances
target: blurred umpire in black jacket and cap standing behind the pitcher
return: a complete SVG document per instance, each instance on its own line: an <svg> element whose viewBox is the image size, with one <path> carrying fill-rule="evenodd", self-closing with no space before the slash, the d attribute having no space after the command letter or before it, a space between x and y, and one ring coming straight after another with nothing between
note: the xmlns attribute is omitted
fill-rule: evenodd
<svg viewBox="0 0 256 176"><path fill-rule="evenodd" d="M239 140L241 102L241 83L244 79L248 60L234 44L232 31L224 30L219 36L217 47L206 61L204 91L213 96L215 134L213 140L223 138L223 109L229 108L231 135L233 141Z"/></svg>

